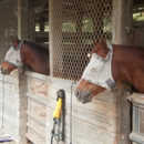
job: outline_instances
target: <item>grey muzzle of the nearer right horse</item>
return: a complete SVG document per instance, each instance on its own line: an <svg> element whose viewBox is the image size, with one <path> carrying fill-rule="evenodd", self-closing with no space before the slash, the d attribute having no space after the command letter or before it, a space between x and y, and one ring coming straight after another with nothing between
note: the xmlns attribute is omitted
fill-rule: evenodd
<svg viewBox="0 0 144 144"><path fill-rule="evenodd" d="M82 102L83 104L92 101L90 92L82 92L82 91L76 90L75 96L76 96L78 101Z"/></svg>

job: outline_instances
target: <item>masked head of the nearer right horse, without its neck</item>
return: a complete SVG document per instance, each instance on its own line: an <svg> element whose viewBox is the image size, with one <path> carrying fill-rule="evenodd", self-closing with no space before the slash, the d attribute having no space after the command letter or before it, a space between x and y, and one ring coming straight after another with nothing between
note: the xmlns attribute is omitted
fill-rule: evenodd
<svg viewBox="0 0 144 144"><path fill-rule="evenodd" d="M90 63L85 68L82 79L75 90L78 101L82 103L91 102L94 95L97 95L109 88L105 82L106 80L104 80L106 79L104 75L107 75L110 70L105 70L105 72L102 70L105 69L103 68L103 64L107 63L110 55L111 52L104 39L102 39L100 43L94 42L94 49L91 52ZM109 84L111 82L113 83L113 80L109 80Z"/></svg>

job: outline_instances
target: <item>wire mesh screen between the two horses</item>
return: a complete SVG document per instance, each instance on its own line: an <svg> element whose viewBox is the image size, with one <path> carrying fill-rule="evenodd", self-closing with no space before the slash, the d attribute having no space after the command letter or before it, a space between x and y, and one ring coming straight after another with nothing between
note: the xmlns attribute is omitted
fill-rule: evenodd
<svg viewBox="0 0 144 144"><path fill-rule="evenodd" d="M52 75L79 80L93 40L112 39L113 0L51 0Z"/></svg>

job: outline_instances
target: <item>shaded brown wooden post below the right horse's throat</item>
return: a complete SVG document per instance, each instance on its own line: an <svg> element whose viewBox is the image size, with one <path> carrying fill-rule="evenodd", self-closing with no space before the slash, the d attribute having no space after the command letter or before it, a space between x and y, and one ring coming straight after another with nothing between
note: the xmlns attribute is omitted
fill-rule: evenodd
<svg viewBox="0 0 144 144"><path fill-rule="evenodd" d="M131 94L131 85L126 82L117 82L112 92L117 97L117 136L115 144L131 144L128 138L132 122L131 103L126 99Z"/></svg>

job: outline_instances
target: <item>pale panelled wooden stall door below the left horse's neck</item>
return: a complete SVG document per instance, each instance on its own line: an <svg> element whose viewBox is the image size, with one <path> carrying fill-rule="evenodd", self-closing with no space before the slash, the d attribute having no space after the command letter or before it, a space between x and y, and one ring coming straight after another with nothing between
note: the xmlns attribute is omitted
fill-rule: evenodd
<svg viewBox="0 0 144 144"><path fill-rule="evenodd" d="M28 132L25 136L34 144L45 144L47 76L27 72L28 76Z"/></svg>

